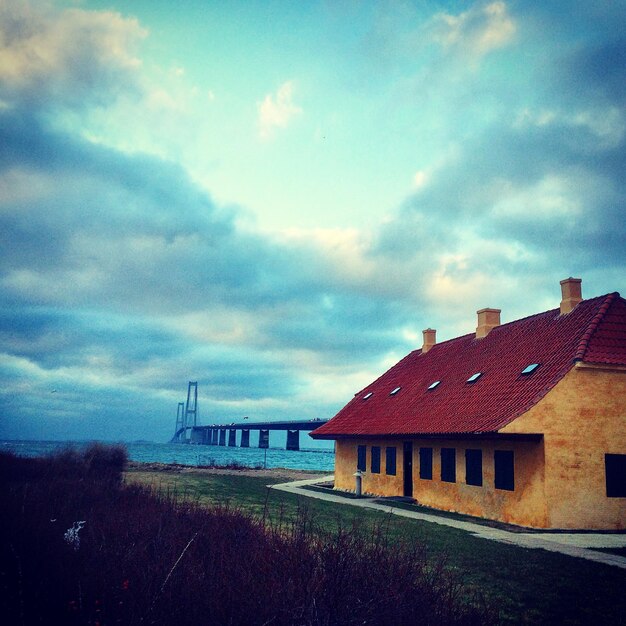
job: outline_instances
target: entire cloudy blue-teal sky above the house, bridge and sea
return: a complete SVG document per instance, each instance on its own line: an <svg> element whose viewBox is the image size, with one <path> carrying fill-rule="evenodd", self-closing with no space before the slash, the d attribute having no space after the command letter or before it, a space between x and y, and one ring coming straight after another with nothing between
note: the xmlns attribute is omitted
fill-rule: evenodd
<svg viewBox="0 0 626 626"><path fill-rule="evenodd" d="M626 3L0 0L0 438L327 419L626 293ZM304 444L303 444L304 445Z"/></svg>

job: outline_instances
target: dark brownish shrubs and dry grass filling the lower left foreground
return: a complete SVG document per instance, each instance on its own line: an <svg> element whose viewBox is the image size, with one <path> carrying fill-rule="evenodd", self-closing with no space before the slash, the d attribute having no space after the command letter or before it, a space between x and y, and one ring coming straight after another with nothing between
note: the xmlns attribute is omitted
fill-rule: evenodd
<svg viewBox="0 0 626 626"><path fill-rule="evenodd" d="M4 623L497 621L441 553L385 519L318 515L248 476L205 474L202 493L123 480L126 465L118 446L0 454Z"/></svg>

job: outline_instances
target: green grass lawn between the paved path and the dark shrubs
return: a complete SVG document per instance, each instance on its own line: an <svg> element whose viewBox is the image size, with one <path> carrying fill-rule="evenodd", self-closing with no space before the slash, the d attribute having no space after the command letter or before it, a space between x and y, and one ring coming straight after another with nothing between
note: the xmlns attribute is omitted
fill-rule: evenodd
<svg viewBox="0 0 626 626"><path fill-rule="evenodd" d="M626 624L626 570L544 550L507 546L465 531L346 504L268 490L267 477L131 471L128 482L176 491L201 503L240 507L270 521L306 508L318 527L384 524L390 541L417 539L434 558L445 555L463 582L500 610L503 623ZM286 479L285 479L286 481ZM372 575L384 576L384 572Z"/></svg>

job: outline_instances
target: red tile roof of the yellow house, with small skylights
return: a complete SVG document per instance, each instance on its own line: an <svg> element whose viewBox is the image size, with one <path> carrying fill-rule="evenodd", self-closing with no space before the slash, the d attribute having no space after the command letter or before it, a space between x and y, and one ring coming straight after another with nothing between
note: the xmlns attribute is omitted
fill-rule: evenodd
<svg viewBox="0 0 626 626"><path fill-rule="evenodd" d="M618 293L583 300L560 315L546 311L415 350L360 391L314 438L489 433L536 404L574 366L626 365L626 300ZM531 374L522 370L531 363ZM474 383L467 379L477 372ZM435 389L429 385L440 380ZM395 395L390 395L401 387ZM364 396L372 395L368 399Z"/></svg>

